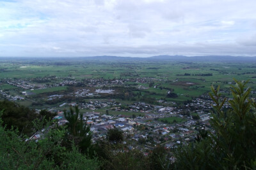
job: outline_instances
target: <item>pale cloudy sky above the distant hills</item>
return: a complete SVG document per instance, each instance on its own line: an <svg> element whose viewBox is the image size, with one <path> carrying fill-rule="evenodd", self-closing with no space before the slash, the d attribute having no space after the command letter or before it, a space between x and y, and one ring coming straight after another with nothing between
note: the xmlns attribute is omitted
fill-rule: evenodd
<svg viewBox="0 0 256 170"><path fill-rule="evenodd" d="M256 56L255 0L0 0L0 57Z"/></svg>

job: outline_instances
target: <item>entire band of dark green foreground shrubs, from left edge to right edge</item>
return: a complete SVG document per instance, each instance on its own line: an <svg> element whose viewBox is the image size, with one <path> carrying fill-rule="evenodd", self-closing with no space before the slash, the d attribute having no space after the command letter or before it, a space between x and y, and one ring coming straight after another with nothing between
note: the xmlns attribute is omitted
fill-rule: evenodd
<svg viewBox="0 0 256 170"><path fill-rule="evenodd" d="M256 103L250 98L251 89L246 83L236 81L229 100L221 96L220 87L212 87L210 96L215 103L210 120L212 131L200 130L194 142L174 151L157 146L147 157L139 150L116 143L120 133L115 130L108 134L116 135L115 140L97 141L88 147L87 153L81 153L81 145L74 141L84 138L79 134L84 134L87 127L78 120L77 108L65 114L69 120L66 127L36 121L35 132L42 136L37 142L18 135L17 130L7 129L0 118L0 166L3 169L255 169ZM223 110L225 101L230 105L228 111ZM47 131L42 132L43 127ZM71 147L63 145L67 135L72 135ZM172 155L174 162L170 159Z"/></svg>

